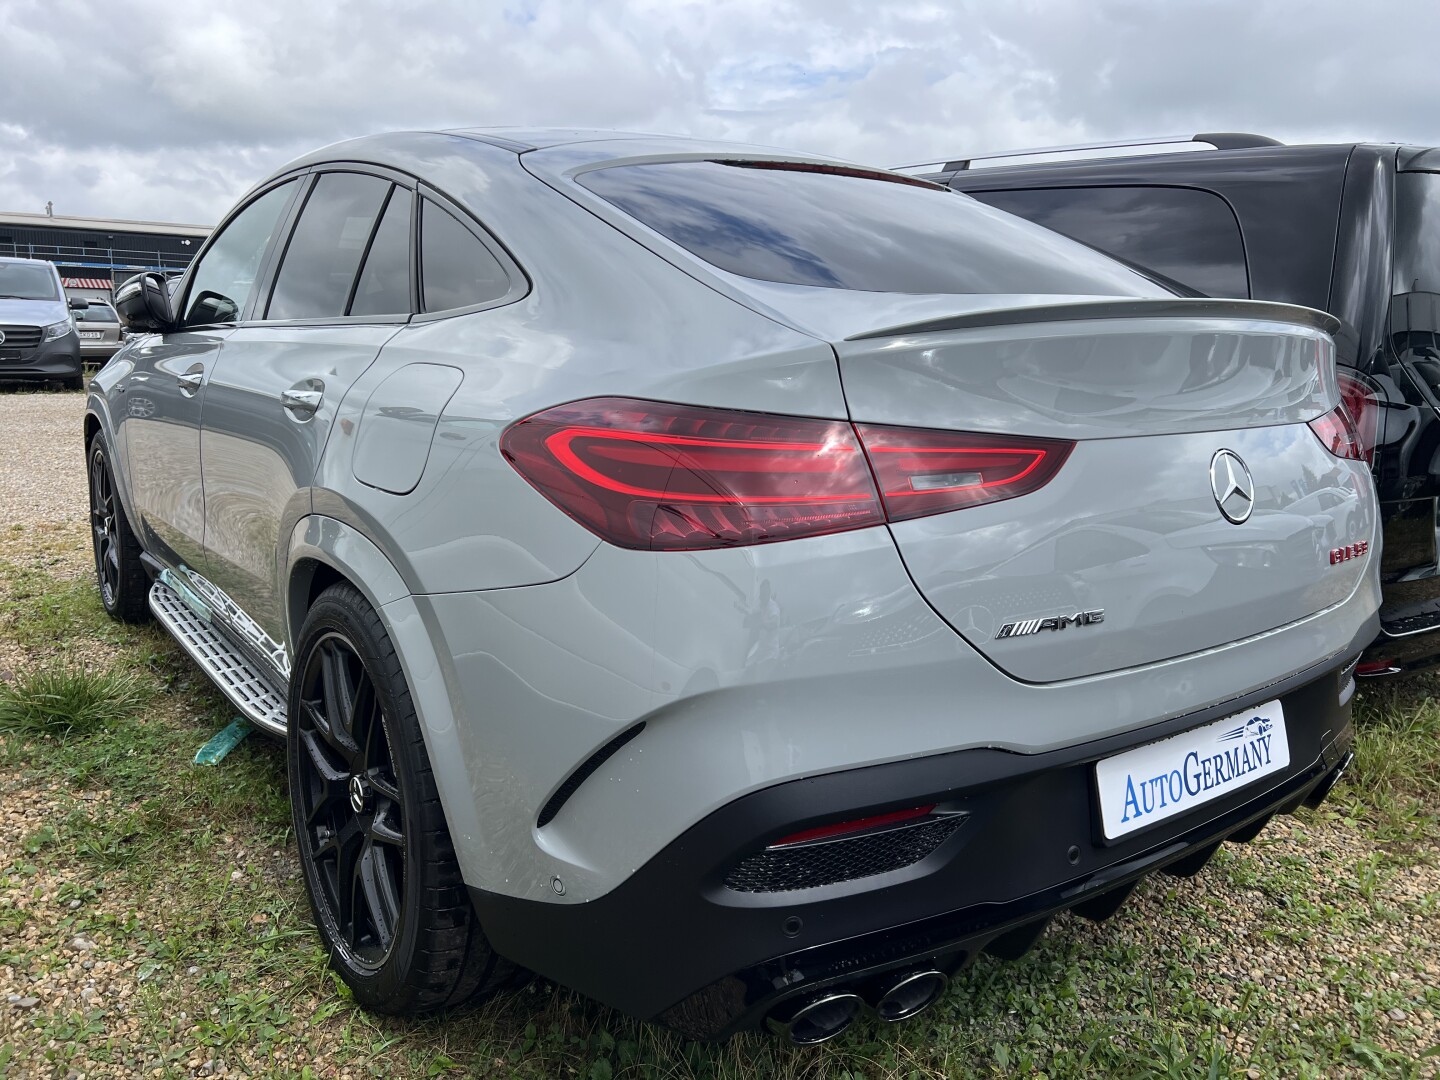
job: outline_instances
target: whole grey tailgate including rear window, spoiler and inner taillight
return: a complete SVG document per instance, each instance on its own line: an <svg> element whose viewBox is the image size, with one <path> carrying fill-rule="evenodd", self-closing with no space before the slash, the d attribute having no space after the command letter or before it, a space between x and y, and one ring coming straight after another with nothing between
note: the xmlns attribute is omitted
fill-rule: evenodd
<svg viewBox="0 0 1440 1080"><path fill-rule="evenodd" d="M1371 481L1310 426L1351 435L1332 413L1331 315L1179 298L907 177L654 150L539 151L527 167L719 292L835 343L910 576L1001 670L1133 668L1355 590Z"/></svg>

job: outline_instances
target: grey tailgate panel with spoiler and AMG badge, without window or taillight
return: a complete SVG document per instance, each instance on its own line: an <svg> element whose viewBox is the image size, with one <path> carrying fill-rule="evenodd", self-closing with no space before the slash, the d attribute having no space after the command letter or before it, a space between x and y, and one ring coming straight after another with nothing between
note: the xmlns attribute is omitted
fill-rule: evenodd
<svg viewBox="0 0 1440 1080"><path fill-rule="evenodd" d="M1374 504L1364 462L1318 436L1336 402L1323 320L1244 301L1070 302L868 331L837 351L861 426L1012 436L1020 454L1073 444L1038 490L890 527L935 609L1040 683L1210 649L1354 592Z"/></svg>

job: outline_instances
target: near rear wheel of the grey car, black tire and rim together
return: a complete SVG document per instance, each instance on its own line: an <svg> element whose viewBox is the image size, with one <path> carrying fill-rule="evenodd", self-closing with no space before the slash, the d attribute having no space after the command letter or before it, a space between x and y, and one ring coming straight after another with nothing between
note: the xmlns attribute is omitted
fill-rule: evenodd
<svg viewBox="0 0 1440 1080"><path fill-rule="evenodd" d="M356 1001L418 1014L513 985L461 880L395 645L348 583L301 628L288 760L315 926Z"/></svg>

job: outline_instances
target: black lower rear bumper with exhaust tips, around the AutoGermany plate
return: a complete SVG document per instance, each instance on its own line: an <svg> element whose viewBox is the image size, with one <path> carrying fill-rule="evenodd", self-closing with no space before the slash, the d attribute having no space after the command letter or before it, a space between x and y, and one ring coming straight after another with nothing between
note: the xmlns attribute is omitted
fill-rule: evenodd
<svg viewBox="0 0 1440 1080"><path fill-rule="evenodd" d="M1349 756L1354 652L1244 698L1139 733L1048 753L960 750L778 783L710 814L583 904L472 888L510 959L696 1038L759 1024L785 1002L917 965L1020 955L1061 910L1110 914L1155 870L1195 873L1224 840L1323 798ZM1139 834L1106 841L1093 763L1279 697L1290 766ZM919 863L821 888L740 893L724 876L824 819L939 802L965 824Z"/></svg>

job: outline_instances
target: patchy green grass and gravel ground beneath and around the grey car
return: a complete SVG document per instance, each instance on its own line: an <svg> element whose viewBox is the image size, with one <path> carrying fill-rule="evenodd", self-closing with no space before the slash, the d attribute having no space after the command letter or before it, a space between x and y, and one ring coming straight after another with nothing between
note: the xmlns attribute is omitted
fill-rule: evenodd
<svg viewBox="0 0 1440 1080"><path fill-rule="evenodd" d="M1423 1057L1440 1041L1440 935L1421 933L1440 924L1440 893L1407 891L1440 850L1431 680L1367 687L1356 762L1331 804L1221 848L1197 878L1149 880L1104 924L1063 916L1022 960L979 958L912 1022L865 1020L812 1050L749 1034L710 1045L543 981L442 1017L357 1009L295 876L282 747L252 736L216 768L192 765L232 713L160 632L109 622L86 588L0 564L0 605L19 596L0 636L35 658L0 688L27 717L0 721L0 801L43 791L48 805L0 860L0 968L68 978L66 945L85 935L96 963L124 966L135 1031L118 1037L108 1004L37 1007L0 1034L0 1077L17 1063L16 1074L180 1077L207 1060L357 1080L1420 1077L1440 1066ZM101 642L94 671L72 655L81 641Z"/></svg>

